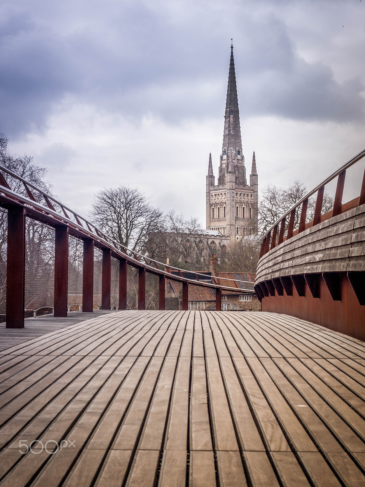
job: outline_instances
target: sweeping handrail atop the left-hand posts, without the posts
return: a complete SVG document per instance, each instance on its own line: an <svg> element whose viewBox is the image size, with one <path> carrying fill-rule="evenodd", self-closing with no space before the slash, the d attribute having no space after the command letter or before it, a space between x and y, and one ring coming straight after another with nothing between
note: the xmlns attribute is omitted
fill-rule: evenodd
<svg viewBox="0 0 365 487"><path fill-rule="evenodd" d="M15 192L15 191L13 191L11 189L8 189L5 186L0 185L0 191L2 193L4 193L5 195L8 195L13 200L15 199L15 200L18 200L19 202L21 202L21 203L23 203L25 205L33 206L33 208L39 210L42 213L46 213L46 214L50 215L53 218L56 217L55 218L55 220L56 220L55 224L57 222L58 223L62 222L62 223L65 223L67 225L73 226L74 228L76 228L77 230L79 230L81 233L83 233L86 237L89 237L89 238L91 237L92 239L94 239L96 241L99 241L101 244L106 245L108 248L110 248L110 250L112 250L113 252L115 252L117 255L119 254L119 257L122 257L123 259L127 259L128 261L133 262L138 267L144 267L146 270L148 269L153 274L164 275L169 280L181 281L181 282L189 282L189 283L192 283L194 285L203 286L203 287L210 287L210 288L213 288L213 289L221 289L221 290L225 290L225 291L248 292L248 293L252 293L252 294L255 293L255 291L254 290L251 290L251 289L242 289L242 288L239 288L239 287L237 288L237 287L230 287L230 286L221 286L219 284L210 284L208 282L201 282L201 281L196 281L196 280L192 280L192 279L187 279L187 278L184 278L184 277L181 277L181 276L175 276L175 275L172 275L170 272L166 272L166 271L161 270L158 267L155 268L155 267L152 267L151 265L148 265L147 263L143 263L143 262L141 262L141 261L139 261L137 259L134 259L130 255L128 255L127 251L128 252L131 252L132 254L134 254L136 256L138 255L141 258L146 259L147 261L154 262L154 263L160 264L162 266L166 266L166 267L168 267L170 269L175 269L175 270L181 271L181 272L193 272L193 271L186 271L186 269L179 269L178 267L166 265L163 262L156 261L155 259L151 259L150 257L146 257L146 256L140 254L139 252L136 252L134 250L129 249L125 245L120 244L119 242L117 242L117 241L111 239L110 237L106 236L104 234L104 232L100 231L95 225L93 225L90 222L88 222L85 218L83 218L80 215L74 213L70 208L68 208L65 205L62 205L57 200L55 200L55 198L53 198L52 196L50 196L47 193L45 193L45 191L37 188L33 184L31 185L31 183L28 183L26 180L24 180L20 176L17 176L17 174L15 174L14 172L9 171L8 169L4 168L1 165L0 165L0 170L5 170L7 173L11 174L13 177L16 177L17 179L19 179L23 184L26 184L26 185L29 185L29 186L33 187L34 189L36 189L37 191L39 191L39 193L41 193L43 196L46 196L47 198L52 199L52 201L54 201L55 203L57 203L57 205L61 206L62 208L66 208L73 215L77 215L82 221L84 221L85 223L89 224L90 227L94 228L96 233L91 232L89 229L84 228L82 225L79 225L78 223L73 222L70 218L67 218L64 215L62 215L60 213L57 213L56 211L52 210L51 208L49 208L47 206L44 206L44 205L41 205L40 203L37 203L37 201L33 201L30 198L27 198L25 196L22 196L22 195L18 194L17 192ZM101 235L102 235L102 237L101 237ZM110 244L110 242L113 245ZM125 252L123 252L122 250L118 250L118 248L115 245L118 245L119 247L125 249ZM200 276L208 277L209 279L212 279L212 276L209 276L207 274L199 274L199 275ZM233 281L235 283L237 283L237 282L245 282L245 283L249 283L251 285L254 285L254 283L252 281L241 281L241 280L235 280L235 279L229 279L229 278L220 278L220 277L215 277L215 276L213 276L213 277L215 279L217 279L217 280L223 279L225 281Z"/></svg>

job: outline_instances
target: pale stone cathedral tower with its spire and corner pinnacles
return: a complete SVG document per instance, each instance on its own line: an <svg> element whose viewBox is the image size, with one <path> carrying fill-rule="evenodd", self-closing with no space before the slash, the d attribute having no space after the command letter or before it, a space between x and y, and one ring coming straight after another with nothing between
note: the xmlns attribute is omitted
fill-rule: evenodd
<svg viewBox="0 0 365 487"><path fill-rule="evenodd" d="M247 185L245 159L242 152L233 45L231 45L223 144L219 162L218 184L215 185L212 157L209 154L206 177L206 228L219 230L223 235L229 236L232 242L240 240L243 235L256 234L258 216L255 152L249 185Z"/></svg>

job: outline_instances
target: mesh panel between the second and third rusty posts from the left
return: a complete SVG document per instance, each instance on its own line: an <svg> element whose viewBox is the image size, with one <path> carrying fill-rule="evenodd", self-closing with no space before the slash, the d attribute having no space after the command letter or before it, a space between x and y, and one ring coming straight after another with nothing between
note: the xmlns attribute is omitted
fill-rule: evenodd
<svg viewBox="0 0 365 487"><path fill-rule="evenodd" d="M82 305L83 242L69 237L69 275L67 285L67 306L70 311L81 309Z"/></svg>

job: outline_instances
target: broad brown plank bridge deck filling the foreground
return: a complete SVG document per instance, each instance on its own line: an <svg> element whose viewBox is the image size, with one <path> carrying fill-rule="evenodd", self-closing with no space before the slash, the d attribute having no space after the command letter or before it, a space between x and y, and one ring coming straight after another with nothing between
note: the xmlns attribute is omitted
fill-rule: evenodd
<svg viewBox="0 0 365 487"><path fill-rule="evenodd" d="M297 318L124 311L0 364L3 486L365 485L365 343Z"/></svg>

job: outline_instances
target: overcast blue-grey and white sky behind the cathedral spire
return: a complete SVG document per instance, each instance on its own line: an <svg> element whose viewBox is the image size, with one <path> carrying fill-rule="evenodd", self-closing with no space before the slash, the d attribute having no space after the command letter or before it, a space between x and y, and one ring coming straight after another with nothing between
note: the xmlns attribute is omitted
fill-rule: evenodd
<svg viewBox="0 0 365 487"><path fill-rule="evenodd" d="M310 189L365 147L365 0L0 5L0 131L85 216L99 188L129 184L205 224L231 37L259 185ZM349 175L346 197L359 181Z"/></svg>

